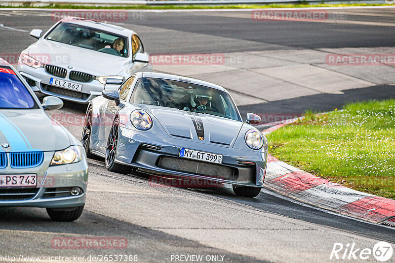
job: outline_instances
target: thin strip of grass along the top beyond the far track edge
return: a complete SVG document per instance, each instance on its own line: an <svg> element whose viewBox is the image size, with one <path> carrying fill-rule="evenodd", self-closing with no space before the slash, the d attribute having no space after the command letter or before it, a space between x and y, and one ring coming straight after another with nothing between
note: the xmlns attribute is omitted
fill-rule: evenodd
<svg viewBox="0 0 395 263"><path fill-rule="evenodd" d="M160 0L158 1L160 2ZM333 7L333 6L391 6L395 4L381 4L381 3L342 3L342 4L304 4L303 1L299 4L229 4L229 5L126 5L126 6L84 6L72 4L48 4L45 6L36 7L31 2L26 2L18 7L24 8L54 8L54 9L242 9L242 8L292 8L292 7ZM15 8L16 6L1 6L1 8Z"/></svg>

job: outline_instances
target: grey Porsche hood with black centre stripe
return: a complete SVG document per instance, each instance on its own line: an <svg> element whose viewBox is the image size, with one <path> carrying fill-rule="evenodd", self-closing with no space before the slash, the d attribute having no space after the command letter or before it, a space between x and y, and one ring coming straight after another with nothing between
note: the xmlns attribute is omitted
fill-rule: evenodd
<svg viewBox="0 0 395 263"><path fill-rule="evenodd" d="M233 147L242 122L209 114L201 114L146 105L170 137L191 139L205 144Z"/></svg>

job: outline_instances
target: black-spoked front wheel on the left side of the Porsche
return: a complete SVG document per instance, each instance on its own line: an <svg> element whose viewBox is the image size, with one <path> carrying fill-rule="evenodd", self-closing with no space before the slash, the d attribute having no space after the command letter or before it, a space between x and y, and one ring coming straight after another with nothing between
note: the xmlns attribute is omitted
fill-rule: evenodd
<svg viewBox="0 0 395 263"><path fill-rule="evenodd" d="M129 174L133 170L133 167L115 163L117 156L118 135L119 119L116 118L108 135L105 159L106 168L111 172Z"/></svg>

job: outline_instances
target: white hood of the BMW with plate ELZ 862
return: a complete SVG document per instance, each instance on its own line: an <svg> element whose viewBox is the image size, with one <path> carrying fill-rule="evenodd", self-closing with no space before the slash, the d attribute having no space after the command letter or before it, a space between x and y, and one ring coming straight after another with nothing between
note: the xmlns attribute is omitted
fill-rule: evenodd
<svg viewBox="0 0 395 263"><path fill-rule="evenodd" d="M126 58L40 38L27 54L43 64L50 64L95 75L117 75L130 63Z"/></svg>

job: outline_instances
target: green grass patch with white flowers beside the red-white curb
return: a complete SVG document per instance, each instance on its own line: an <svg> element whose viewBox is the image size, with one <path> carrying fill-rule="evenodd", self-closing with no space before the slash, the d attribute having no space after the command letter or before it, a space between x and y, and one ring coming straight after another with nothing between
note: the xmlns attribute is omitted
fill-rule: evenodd
<svg viewBox="0 0 395 263"><path fill-rule="evenodd" d="M395 199L395 99L348 104L268 135L277 159L358 191Z"/></svg>

